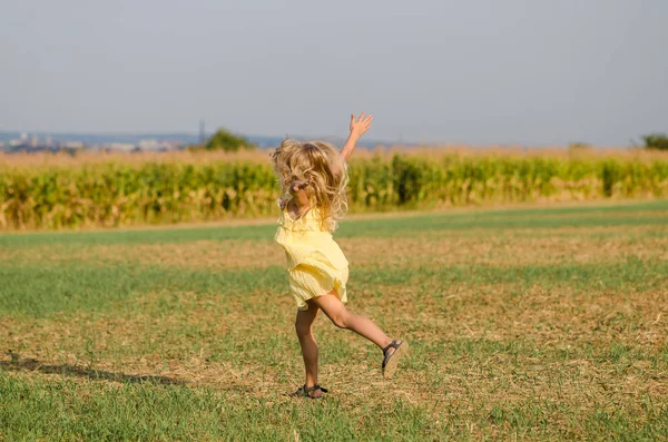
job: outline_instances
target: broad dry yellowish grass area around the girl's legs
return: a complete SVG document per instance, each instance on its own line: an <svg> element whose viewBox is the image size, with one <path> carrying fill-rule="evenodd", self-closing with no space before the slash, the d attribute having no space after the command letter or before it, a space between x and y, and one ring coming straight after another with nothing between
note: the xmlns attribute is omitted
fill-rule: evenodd
<svg viewBox="0 0 668 442"><path fill-rule="evenodd" d="M650 361L667 345L668 291L620 295L605 289L574 293L568 285L522 291L515 284L473 285L430 296L441 287L431 288L416 293L405 286L379 287L384 297L364 289L351 294L353 311L412 341L418 358L401 380L401 394L410 401L428 400L429 394L433 399L435 393L453 399L459 394L453 383L459 389L474 384L473 391L487 400L511 399L509 391L499 391L500 380L514 389L515 399L531 389L558 400L554 379L573 376L578 389L596 381L597 391L589 389L587 394L599 394L602 384L616 385L622 394L631 389L627 383L642 382L668 400L665 385L658 385L668 381L668 360L654 362L654 367ZM386 314L392 310L396 313ZM282 391L301 373L293 315L287 294L257 293L225 302L193 293L151 294L110 314L4 318L0 351L3 367L11 370L14 358L16 370L36 375L52 375L60 366L79 377L105 372L116 373L118 380L158 376L234 391L252 385ZM369 343L334 328L324 317L316 334L324 348L323 379L338 391L361 389L357 394L364 394L385 385L380 377L373 381L380 354ZM621 352L619 357L615 351ZM80 370L88 375L80 376ZM520 372L533 381L521 382ZM569 389L574 402L582 400L584 392L576 384ZM474 403L475 397L468 401Z"/></svg>

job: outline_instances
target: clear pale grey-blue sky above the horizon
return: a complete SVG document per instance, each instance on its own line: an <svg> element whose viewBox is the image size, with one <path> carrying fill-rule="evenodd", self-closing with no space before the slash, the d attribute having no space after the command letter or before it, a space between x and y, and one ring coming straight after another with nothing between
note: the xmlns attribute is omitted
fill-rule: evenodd
<svg viewBox="0 0 668 442"><path fill-rule="evenodd" d="M0 2L0 129L626 145L668 131L667 0Z"/></svg>

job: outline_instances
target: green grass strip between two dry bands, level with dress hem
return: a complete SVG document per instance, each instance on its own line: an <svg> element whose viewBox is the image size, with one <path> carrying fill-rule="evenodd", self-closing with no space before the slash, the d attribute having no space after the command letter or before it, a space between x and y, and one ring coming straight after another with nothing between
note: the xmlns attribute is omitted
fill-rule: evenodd
<svg viewBox="0 0 668 442"><path fill-rule="evenodd" d="M615 291L660 289L665 287L668 262L642 262L629 258L613 265L550 265L550 266L450 266L419 267L402 272L395 266L362 268L354 272L351 287L379 285L410 285L425 291L415 294L414 301L448 294L452 285L508 284L521 282L524 286L540 284L543 288L568 283L574 293L593 287ZM77 311L105 311L119 301L130 301L149 293L196 292L212 294L225 302L229 296L248 293L268 293L287 289L285 271L277 266L263 272L215 272L169 267L116 265L92 267L63 265L45 267L0 268L0 310L7 316L22 314L41 317L50 313ZM432 293L426 287L440 286ZM382 291L379 296L384 296Z"/></svg>

